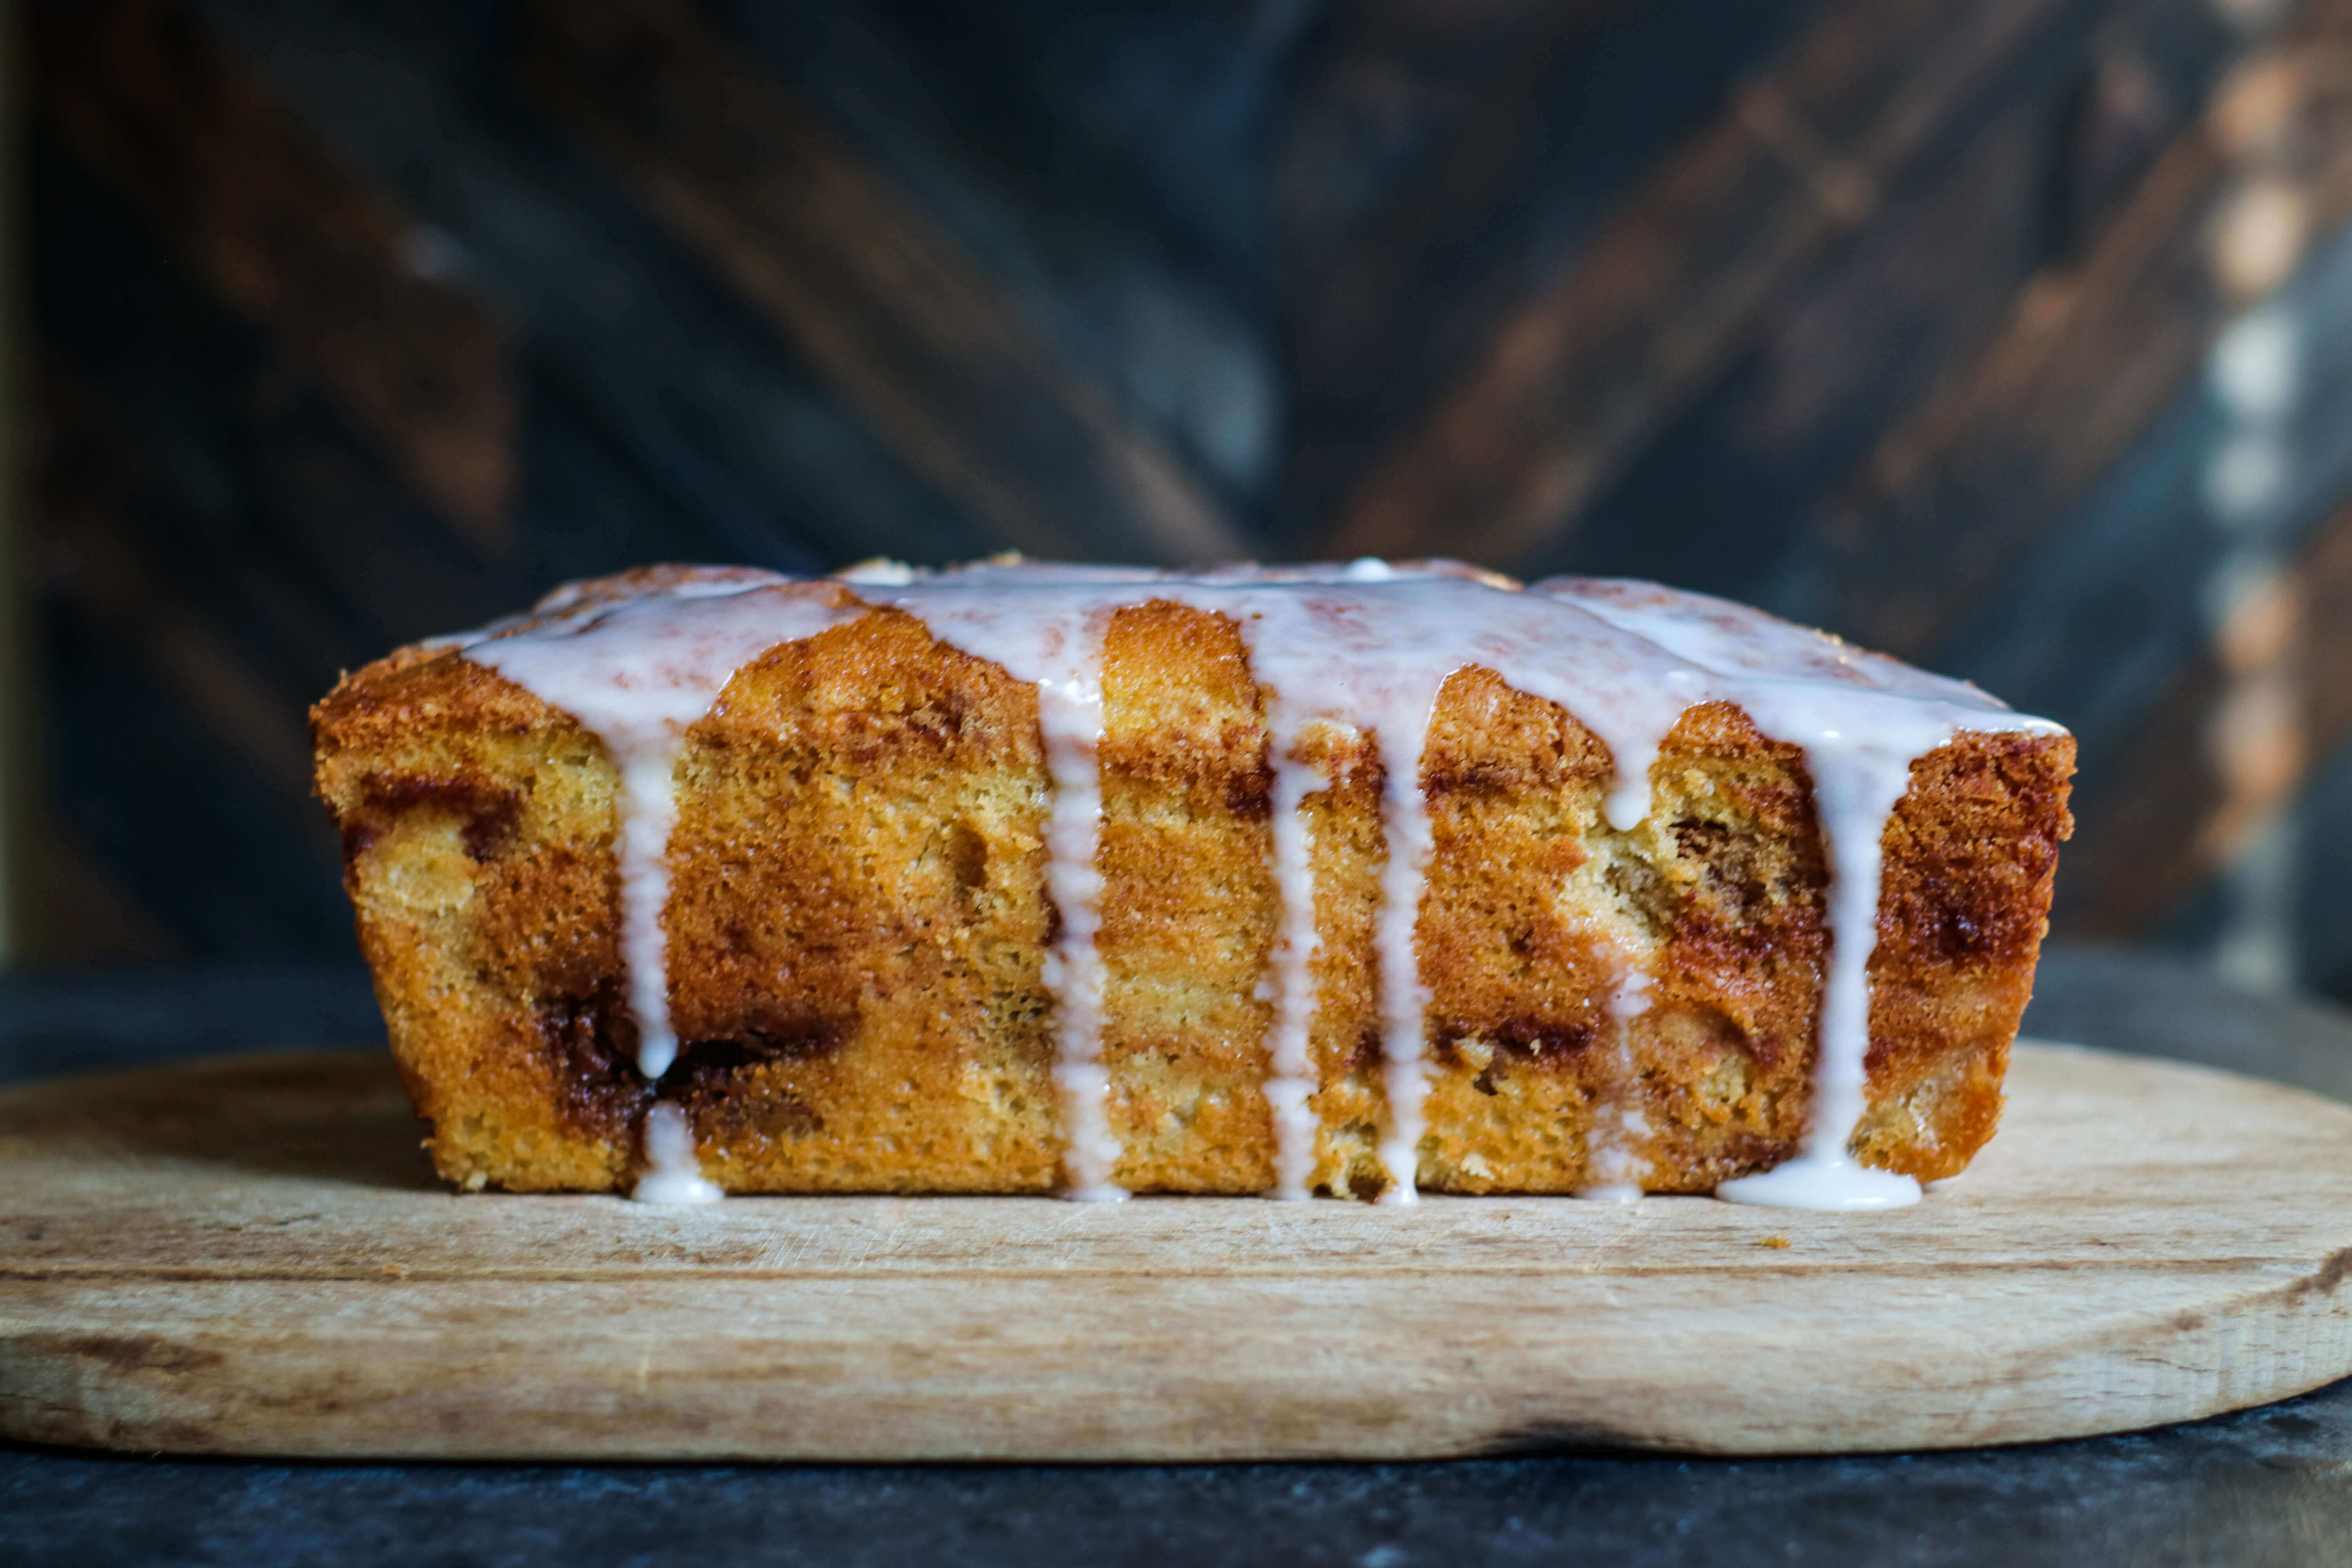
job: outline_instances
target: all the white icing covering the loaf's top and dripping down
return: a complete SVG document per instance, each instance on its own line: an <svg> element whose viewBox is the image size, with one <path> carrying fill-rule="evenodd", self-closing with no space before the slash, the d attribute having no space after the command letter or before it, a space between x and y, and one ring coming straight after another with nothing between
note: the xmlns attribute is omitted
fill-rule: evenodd
<svg viewBox="0 0 2352 1568"><path fill-rule="evenodd" d="M840 604L840 588L858 602ZM1722 599L1649 583L1552 578L1519 590L1454 562L1388 567L1235 567L1197 576L1110 567L983 564L917 574L868 564L835 583L795 583L746 569L663 569L550 595L541 618L449 639L468 658L532 689L604 738L621 769L623 959L640 1027L640 1065L659 1079L675 1056L661 910L675 764L687 726L731 675L783 642L903 609L934 637L1037 686L1054 802L1047 889L1061 936L1047 959L1056 1006L1056 1065L1073 1197L1124 1197L1108 1126L1103 1046L1101 778L1103 632L1122 607L1155 599L1228 616L1268 691L1275 771L1275 882L1282 924L1272 957L1275 1020L1265 1084L1275 1126L1275 1194L1305 1197L1317 1161L1317 1088L1308 1048L1315 1016L1315 907L1303 802L1327 780L1298 759L1305 731L1364 733L1383 769L1376 952L1390 1131L1381 1145L1390 1201L1416 1192L1423 1135L1428 987L1416 924L1428 891L1430 816L1421 783L1430 717L1444 682L1489 668L1566 708L1616 764L1604 818L1618 832L1649 813L1649 773L1665 733L1693 705L1724 701L1759 731L1804 750L1830 860L1830 976L1823 987L1813 1100L1797 1159L1724 1182L1736 1201L1872 1208L1907 1204L1917 1182L1846 1152L1865 1107L1870 1020L1867 940L1877 922L1879 839L1910 764L1962 731L2058 733L2009 712L1964 682L1943 679L1835 637ZM1839 940L1842 933L1849 940ZM1860 936L1863 940L1851 940ZM1630 1030L1651 976L1623 959L1606 1011L1616 1023L1618 1086L1595 1105L1588 1150L1595 1197L1635 1197L1649 1171ZM659 1107L656 1107L659 1110ZM659 1133L659 1135L656 1135ZM642 1197L701 1197L691 1133L647 1128ZM699 1182L699 1185L696 1185Z"/></svg>

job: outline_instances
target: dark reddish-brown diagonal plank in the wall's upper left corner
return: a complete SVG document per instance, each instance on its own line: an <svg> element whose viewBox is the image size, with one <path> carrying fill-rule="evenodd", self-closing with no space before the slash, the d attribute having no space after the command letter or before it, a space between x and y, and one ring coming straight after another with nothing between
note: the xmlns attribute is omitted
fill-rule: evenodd
<svg viewBox="0 0 2352 1568"><path fill-rule="evenodd" d="M423 275L419 226L160 0L45 5L35 19L42 106L66 146L325 383L419 494L503 550L508 334Z"/></svg>

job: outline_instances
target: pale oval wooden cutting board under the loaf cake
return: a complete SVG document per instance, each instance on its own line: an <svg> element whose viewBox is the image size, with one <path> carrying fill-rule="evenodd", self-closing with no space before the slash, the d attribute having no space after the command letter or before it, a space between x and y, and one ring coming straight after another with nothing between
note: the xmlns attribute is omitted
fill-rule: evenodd
<svg viewBox="0 0 2352 1568"><path fill-rule="evenodd" d="M390 1065L0 1095L0 1434L397 1458L1945 1448L2352 1373L2352 1110L2020 1046L1900 1213L445 1192Z"/></svg>

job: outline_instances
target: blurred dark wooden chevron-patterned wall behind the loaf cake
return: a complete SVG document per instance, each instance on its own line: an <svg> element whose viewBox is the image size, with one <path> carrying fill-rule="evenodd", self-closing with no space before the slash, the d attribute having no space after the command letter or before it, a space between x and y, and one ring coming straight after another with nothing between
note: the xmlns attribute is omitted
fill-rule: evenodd
<svg viewBox="0 0 2352 1568"><path fill-rule="evenodd" d="M2352 0L28 0L33 950L353 957L303 708L562 576L1656 576L2352 997Z"/></svg>

